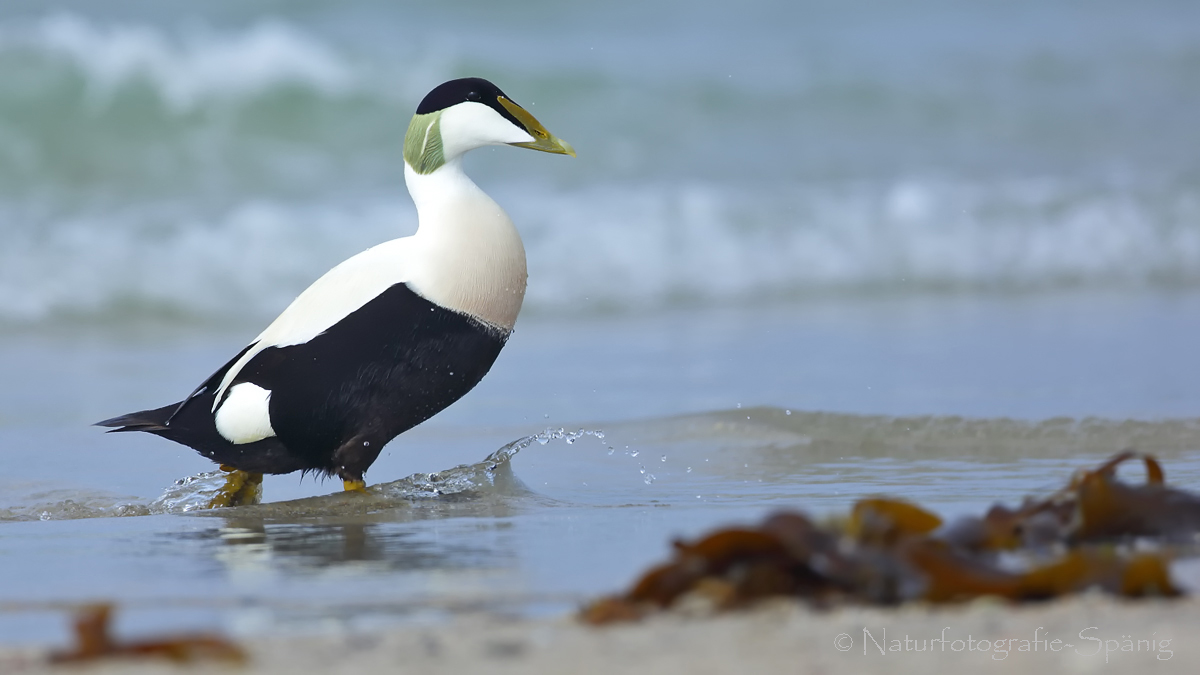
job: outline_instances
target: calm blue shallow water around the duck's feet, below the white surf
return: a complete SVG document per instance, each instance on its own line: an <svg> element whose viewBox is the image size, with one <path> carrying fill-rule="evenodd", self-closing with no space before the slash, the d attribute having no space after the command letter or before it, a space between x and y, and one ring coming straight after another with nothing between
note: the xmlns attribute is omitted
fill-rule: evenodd
<svg viewBox="0 0 1200 675"><path fill-rule="evenodd" d="M628 584L672 537L870 494L980 512L1127 447L1200 489L1200 419L1181 414L1198 410L1182 338L1196 305L844 298L522 322L475 392L388 447L371 495L268 477L268 503L187 514L152 502L210 464L86 424L188 392L244 336L12 334L4 368L26 384L2 394L16 468L0 480L0 635L64 640L53 603L96 598L122 601L131 632L563 613Z"/></svg>

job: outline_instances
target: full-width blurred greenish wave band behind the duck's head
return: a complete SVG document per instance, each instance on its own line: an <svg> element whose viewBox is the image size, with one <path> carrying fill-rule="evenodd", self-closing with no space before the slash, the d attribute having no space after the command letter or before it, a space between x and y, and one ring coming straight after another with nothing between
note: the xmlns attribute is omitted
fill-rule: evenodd
<svg viewBox="0 0 1200 675"><path fill-rule="evenodd" d="M220 28L136 14L0 17L0 201L228 205L396 181L415 103L466 74L493 77L580 149L570 168L523 169L541 177L1195 174L1177 141L1200 91L1190 42L1139 47L1136 59L1043 58L1009 36L1016 44L984 50L971 67L923 53L910 68L826 46L734 77L715 53L694 58L688 31L631 37L628 53L563 49L558 61L497 54L494 26L451 20L461 17L450 10L437 25L452 25L455 40L385 7L330 11L338 20L298 12ZM347 28L356 22L371 25ZM794 41L779 26L767 32L767 42ZM672 55L649 67L638 49L650 48ZM1074 74L1048 88L1046 59ZM1123 83L1136 83L1136 95L1115 102Z"/></svg>

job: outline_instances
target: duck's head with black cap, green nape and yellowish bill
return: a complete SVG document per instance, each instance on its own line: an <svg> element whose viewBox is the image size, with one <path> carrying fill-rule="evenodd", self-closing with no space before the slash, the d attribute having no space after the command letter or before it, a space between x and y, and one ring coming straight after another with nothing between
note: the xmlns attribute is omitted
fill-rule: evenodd
<svg viewBox="0 0 1200 675"><path fill-rule="evenodd" d="M575 149L546 131L499 86L478 77L451 79L433 88L408 125L404 161L416 173L433 173L467 150L517 145L575 156Z"/></svg>

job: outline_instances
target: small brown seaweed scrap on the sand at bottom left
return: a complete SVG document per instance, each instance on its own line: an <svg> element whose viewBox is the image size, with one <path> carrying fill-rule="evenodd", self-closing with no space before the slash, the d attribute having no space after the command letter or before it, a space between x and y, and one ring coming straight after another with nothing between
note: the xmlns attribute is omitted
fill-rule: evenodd
<svg viewBox="0 0 1200 675"><path fill-rule="evenodd" d="M50 655L52 663L79 663L101 658L164 658L175 663L218 661L234 665L246 663L246 652L236 644L209 634L172 635L154 640L121 643L109 625L113 605L91 604L80 608L74 619L74 649Z"/></svg>

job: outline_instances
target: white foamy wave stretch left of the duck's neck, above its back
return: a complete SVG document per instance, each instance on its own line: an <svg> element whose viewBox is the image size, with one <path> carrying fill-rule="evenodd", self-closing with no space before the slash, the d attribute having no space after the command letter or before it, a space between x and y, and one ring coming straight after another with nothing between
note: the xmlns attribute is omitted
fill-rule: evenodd
<svg viewBox="0 0 1200 675"><path fill-rule="evenodd" d="M0 319L127 306L268 316L341 259L415 223L400 202L359 209L252 201L211 219L182 209L88 213L24 228L20 215L0 215L0 232L11 233L0 249Z"/></svg>

